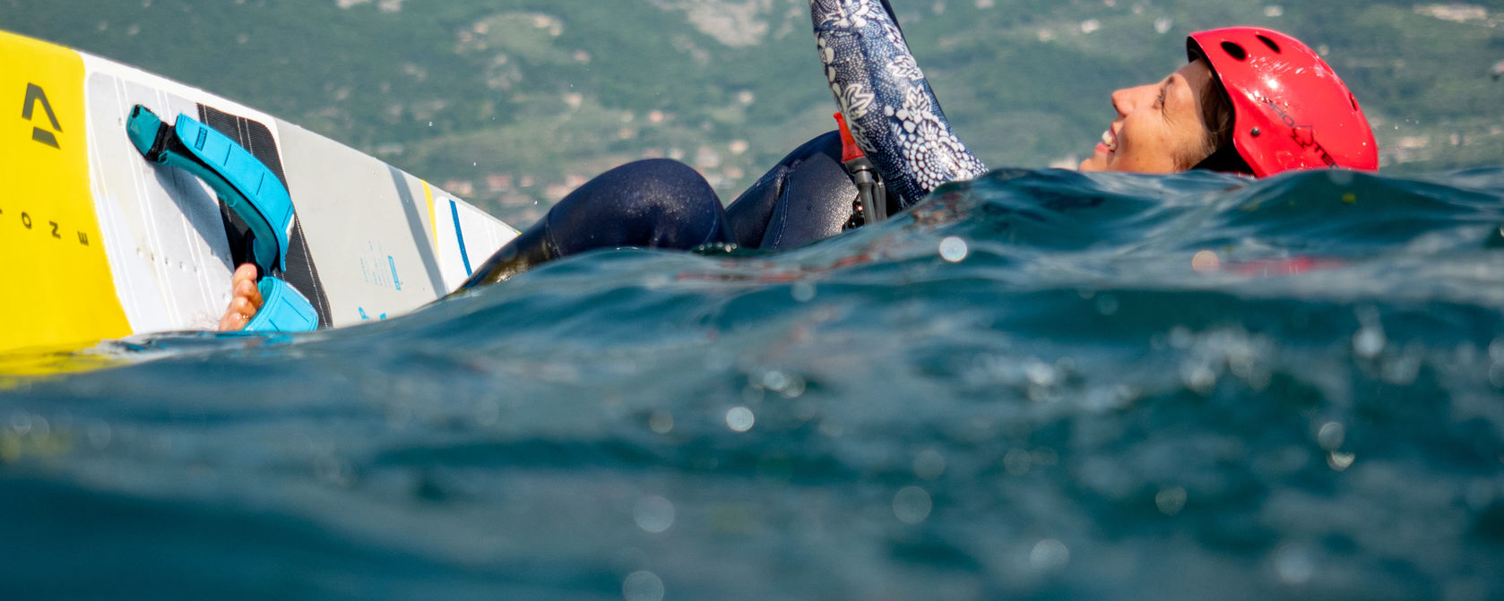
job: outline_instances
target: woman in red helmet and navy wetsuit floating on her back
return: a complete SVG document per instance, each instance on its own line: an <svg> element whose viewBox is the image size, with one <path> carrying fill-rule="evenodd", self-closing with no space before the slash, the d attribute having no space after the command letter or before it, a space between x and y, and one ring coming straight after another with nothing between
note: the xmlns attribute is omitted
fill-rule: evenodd
<svg viewBox="0 0 1504 601"><path fill-rule="evenodd" d="M951 129L887 0L811 0L809 11L850 137L889 191L877 215L987 171ZM1187 65L1164 80L1111 93L1116 117L1081 171L1206 168L1263 177L1298 168L1378 168L1378 146L1358 101L1305 44L1268 29L1229 27L1193 33L1185 47ZM847 158L838 132L820 135L726 207L681 162L617 167L559 200L460 290L597 248L781 249L835 236L869 221ZM221 329L241 329L256 314L254 275L254 267L236 270Z"/></svg>

